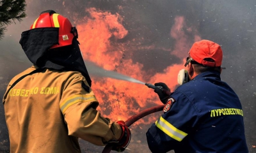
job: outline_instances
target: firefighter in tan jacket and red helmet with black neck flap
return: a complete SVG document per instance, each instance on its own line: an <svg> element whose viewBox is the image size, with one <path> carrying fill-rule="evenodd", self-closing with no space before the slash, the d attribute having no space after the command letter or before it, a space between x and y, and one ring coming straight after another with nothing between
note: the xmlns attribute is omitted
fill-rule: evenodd
<svg viewBox="0 0 256 153"><path fill-rule="evenodd" d="M79 50L76 27L43 11L20 45L33 63L15 76L3 104L10 152L81 152L78 138L124 151L131 132L97 111L99 102Z"/></svg>

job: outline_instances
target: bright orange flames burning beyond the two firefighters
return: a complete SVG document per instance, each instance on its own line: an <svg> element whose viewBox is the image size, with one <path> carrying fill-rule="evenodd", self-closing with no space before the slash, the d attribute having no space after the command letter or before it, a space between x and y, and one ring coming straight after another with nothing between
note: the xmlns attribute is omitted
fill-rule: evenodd
<svg viewBox="0 0 256 153"><path fill-rule="evenodd" d="M128 33L122 25L124 18L118 13L112 14L95 8L86 11L90 15L84 17L85 22L77 25L80 48L86 61L92 61L104 69L117 71L137 80L144 81L143 78L150 78L148 83L165 82L172 91L175 89L177 74L180 69L184 68L184 61L180 64L172 64L172 61L169 61L170 66L164 69L164 73L147 73L142 70L143 64L124 58L125 54L132 55L132 52L125 48L127 45L116 43L116 40L125 38ZM175 49L166 49L180 59L186 58L189 46L191 46L191 43L188 43L191 41L188 41L186 33L184 30L182 31L182 28L186 28L184 26L186 26L184 18L176 17L175 25L170 33L177 40ZM154 46L150 46L150 48L154 48ZM142 84L113 78L92 77L92 89L100 102L99 111L104 117L113 120L127 120L141 110L162 104L157 94ZM155 120L156 118L151 117L147 121L139 120L136 124L151 124Z"/></svg>

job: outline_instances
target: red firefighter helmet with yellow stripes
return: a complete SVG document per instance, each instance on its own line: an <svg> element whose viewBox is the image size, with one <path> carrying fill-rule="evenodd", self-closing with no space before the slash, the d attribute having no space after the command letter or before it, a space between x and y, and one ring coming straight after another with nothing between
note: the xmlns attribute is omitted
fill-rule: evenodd
<svg viewBox="0 0 256 153"><path fill-rule="evenodd" d="M40 13L40 16L31 25L30 29L58 27L59 28L59 44L53 45L51 48L64 47L72 44L73 38L77 35L76 27L72 27L68 18L56 13L53 10L47 10Z"/></svg>

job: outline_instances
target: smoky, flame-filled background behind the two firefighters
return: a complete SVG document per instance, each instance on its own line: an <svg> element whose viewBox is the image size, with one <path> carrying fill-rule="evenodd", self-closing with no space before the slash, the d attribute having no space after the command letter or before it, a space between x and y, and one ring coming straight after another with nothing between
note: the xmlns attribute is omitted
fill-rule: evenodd
<svg viewBox="0 0 256 153"><path fill-rule="evenodd" d="M234 89L244 112L246 141L256 152L255 41L256 2L252 0L106 0L26 1L28 17L8 26L0 40L0 95L12 77L31 66L19 40L40 12L55 10L70 18L92 78L99 111L113 120L128 117L161 101L143 83L165 82L172 91L195 41L211 40L223 49L221 80ZM129 152L148 152L145 133L161 112L132 124ZM8 149L8 131L0 105L0 146ZM83 140L84 152L101 152ZM1 150L0 147L0 150Z"/></svg>

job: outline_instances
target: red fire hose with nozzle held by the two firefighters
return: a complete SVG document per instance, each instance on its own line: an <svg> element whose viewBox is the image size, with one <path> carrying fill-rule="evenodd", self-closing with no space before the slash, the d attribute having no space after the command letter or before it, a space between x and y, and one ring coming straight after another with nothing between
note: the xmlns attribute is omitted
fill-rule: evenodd
<svg viewBox="0 0 256 153"><path fill-rule="evenodd" d="M155 89L156 86L152 85L152 84L145 84L147 85L148 88L152 88ZM166 89L163 89L163 87L161 86L157 86L159 89L161 89L161 91L163 91L165 94L170 95L170 91L167 91ZM156 113L159 112L161 110L163 110L165 105L159 105L159 106L153 106L150 108L147 108L146 110L141 111L140 113L137 113L136 115L133 115L132 117L130 117L129 119L127 119L125 121L125 125L126 126L131 126L134 122L136 122L137 120L141 119L142 117L145 117L147 115L150 115L151 113ZM108 144L104 147L104 149L102 150L102 153L109 153L112 149L112 145Z"/></svg>

